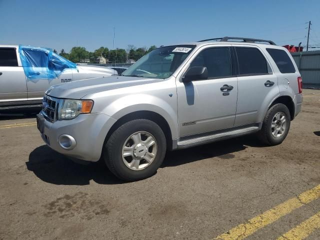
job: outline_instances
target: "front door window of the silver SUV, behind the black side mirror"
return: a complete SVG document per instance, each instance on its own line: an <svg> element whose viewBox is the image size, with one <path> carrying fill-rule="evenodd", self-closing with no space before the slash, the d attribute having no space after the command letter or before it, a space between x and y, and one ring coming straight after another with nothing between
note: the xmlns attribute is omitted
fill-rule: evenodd
<svg viewBox="0 0 320 240"><path fill-rule="evenodd" d="M191 62L192 66L205 66L208 78L231 76L231 59L228 47L212 47L202 50Z"/></svg>

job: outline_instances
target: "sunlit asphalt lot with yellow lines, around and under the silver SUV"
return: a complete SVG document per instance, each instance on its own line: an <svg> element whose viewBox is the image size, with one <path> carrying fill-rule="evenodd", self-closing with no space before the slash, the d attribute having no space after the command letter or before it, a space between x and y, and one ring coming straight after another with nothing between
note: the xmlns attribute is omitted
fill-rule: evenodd
<svg viewBox="0 0 320 240"><path fill-rule="evenodd" d="M320 90L284 142L245 136L167 153L123 182L44 145L35 116L0 116L0 239L320 239Z"/></svg>

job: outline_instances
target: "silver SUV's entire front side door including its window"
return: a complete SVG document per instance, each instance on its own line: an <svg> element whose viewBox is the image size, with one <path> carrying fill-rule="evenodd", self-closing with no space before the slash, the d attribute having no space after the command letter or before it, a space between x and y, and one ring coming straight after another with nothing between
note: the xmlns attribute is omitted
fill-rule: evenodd
<svg viewBox="0 0 320 240"><path fill-rule="evenodd" d="M190 61L190 67L206 67L208 79L176 80L180 136L232 127L237 78L232 74L230 47L204 47ZM233 88L223 90L224 85Z"/></svg>

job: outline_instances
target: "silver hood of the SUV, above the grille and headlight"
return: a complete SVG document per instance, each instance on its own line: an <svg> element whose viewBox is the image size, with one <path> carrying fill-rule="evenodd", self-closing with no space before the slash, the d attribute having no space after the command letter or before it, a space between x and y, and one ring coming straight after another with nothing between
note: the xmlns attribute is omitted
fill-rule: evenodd
<svg viewBox="0 0 320 240"><path fill-rule="evenodd" d="M45 91L45 94L57 98L80 99L87 94L95 92L158 81L163 81L163 79L133 76L99 77L53 85Z"/></svg>

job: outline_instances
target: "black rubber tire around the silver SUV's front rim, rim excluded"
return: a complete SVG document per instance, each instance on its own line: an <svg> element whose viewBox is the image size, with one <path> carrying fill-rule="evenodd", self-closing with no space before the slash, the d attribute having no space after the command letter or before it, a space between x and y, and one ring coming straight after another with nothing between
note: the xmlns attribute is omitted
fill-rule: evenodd
<svg viewBox="0 0 320 240"><path fill-rule="evenodd" d="M146 131L155 138L157 152L154 160L144 169L132 170L122 160L122 146L133 133ZM153 121L135 119L119 126L103 147L103 158L109 170L125 181L136 181L152 176L161 165L166 152L166 140L162 129Z"/></svg>

